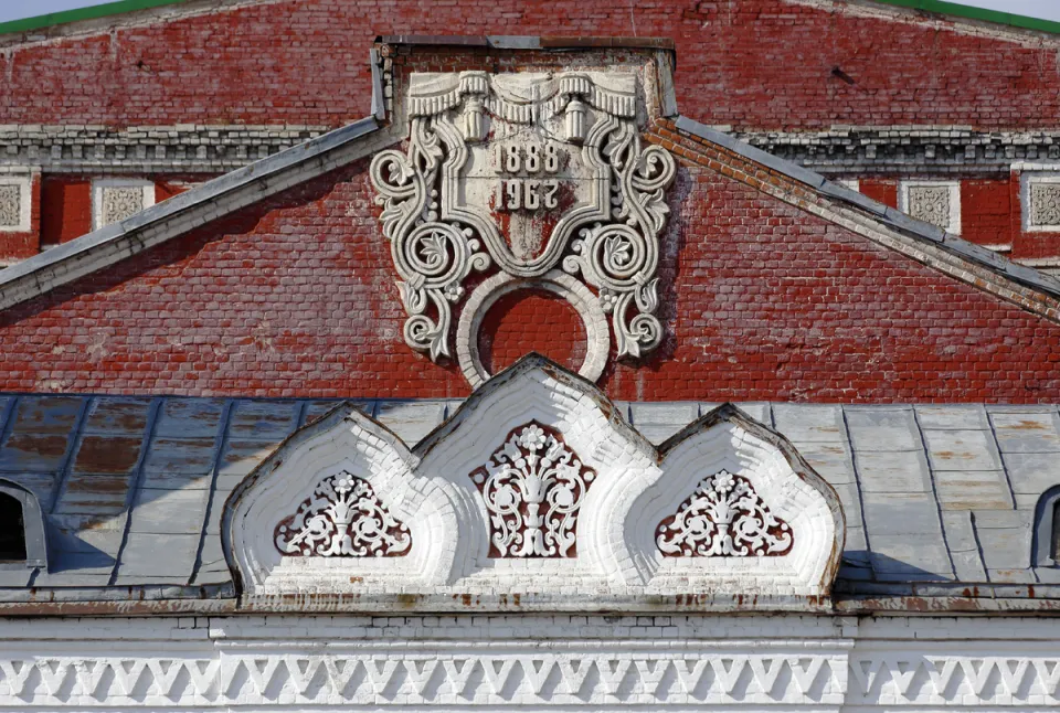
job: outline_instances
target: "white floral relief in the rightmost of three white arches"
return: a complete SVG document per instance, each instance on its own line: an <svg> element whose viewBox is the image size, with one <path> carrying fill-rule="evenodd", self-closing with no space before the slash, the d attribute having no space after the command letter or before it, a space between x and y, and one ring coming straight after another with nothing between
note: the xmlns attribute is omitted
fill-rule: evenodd
<svg viewBox="0 0 1060 713"><path fill-rule="evenodd" d="M745 478L721 470L659 523L656 543L667 557L775 557L794 538Z"/></svg>

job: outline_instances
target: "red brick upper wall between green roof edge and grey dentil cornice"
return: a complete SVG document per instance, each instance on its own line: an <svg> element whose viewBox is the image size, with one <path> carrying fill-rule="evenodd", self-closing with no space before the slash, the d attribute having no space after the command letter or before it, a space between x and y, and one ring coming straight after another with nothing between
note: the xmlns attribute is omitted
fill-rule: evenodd
<svg viewBox="0 0 1060 713"><path fill-rule="evenodd" d="M674 39L708 124L1057 126L1057 50L976 32L784 0L288 0L14 46L0 124L340 125L369 114L375 35L562 34Z"/></svg>

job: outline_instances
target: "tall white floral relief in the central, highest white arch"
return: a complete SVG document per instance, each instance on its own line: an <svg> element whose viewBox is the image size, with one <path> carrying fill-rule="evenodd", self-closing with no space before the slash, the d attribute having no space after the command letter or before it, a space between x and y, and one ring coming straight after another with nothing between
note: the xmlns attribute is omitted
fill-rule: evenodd
<svg viewBox="0 0 1060 713"><path fill-rule="evenodd" d="M595 477L552 428L512 430L471 472L489 513L489 556L575 556L577 511Z"/></svg>

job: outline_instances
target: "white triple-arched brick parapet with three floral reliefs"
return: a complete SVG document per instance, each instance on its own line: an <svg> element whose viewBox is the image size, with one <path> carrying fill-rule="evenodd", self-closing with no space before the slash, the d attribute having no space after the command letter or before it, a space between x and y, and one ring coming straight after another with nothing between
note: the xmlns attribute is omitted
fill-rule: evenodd
<svg viewBox="0 0 1060 713"><path fill-rule="evenodd" d="M733 487L704 490L719 473ZM352 508L340 476L370 486ZM665 553L679 510L685 544ZM282 552L292 528L324 545ZM250 608L797 610L827 605L844 519L791 444L734 406L656 449L591 382L532 354L411 451L352 407L304 428L233 492L223 534Z"/></svg>

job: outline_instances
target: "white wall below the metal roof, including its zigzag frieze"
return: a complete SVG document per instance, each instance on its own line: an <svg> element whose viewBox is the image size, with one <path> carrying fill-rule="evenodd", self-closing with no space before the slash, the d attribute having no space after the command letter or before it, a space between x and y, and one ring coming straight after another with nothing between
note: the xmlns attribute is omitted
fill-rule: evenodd
<svg viewBox="0 0 1060 713"><path fill-rule="evenodd" d="M0 709L1045 711L1053 618L0 619Z"/></svg>

